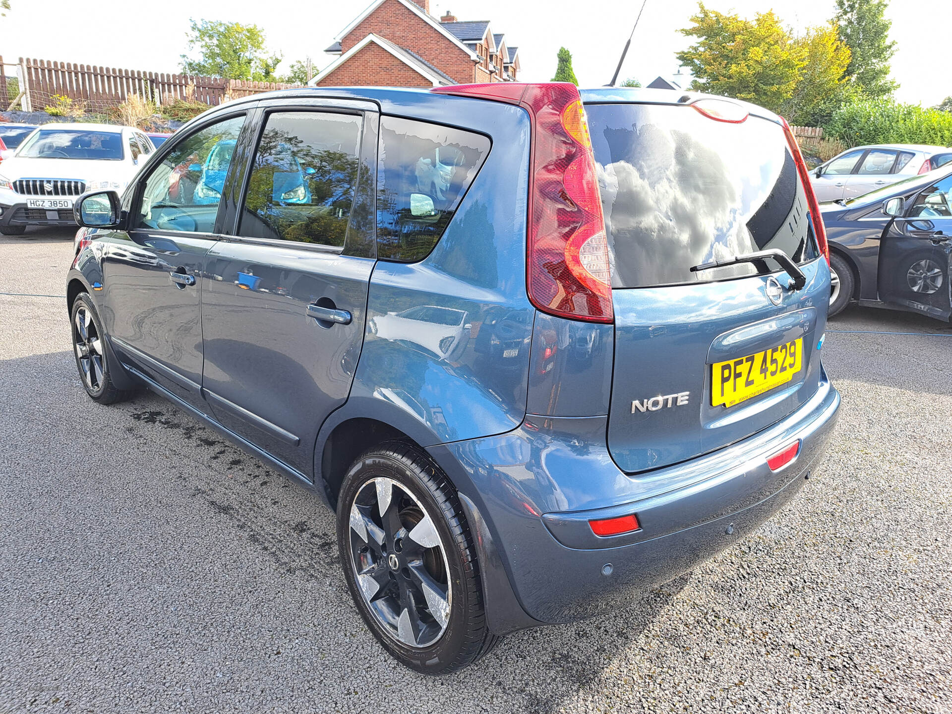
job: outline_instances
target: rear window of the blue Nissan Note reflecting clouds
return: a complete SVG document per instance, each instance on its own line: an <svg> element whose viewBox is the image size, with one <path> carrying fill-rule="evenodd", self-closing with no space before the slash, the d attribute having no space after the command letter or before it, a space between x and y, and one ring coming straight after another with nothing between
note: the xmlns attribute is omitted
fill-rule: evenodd
<svg viewBox="0 0 952 714"><path fill-rule="evenodd" d="M783 128L709 119L686 105L588 105L613 288L725 280L753 264L694 266L779 248L819 255ZM770 269L776 269L769 264Z"/></svg>

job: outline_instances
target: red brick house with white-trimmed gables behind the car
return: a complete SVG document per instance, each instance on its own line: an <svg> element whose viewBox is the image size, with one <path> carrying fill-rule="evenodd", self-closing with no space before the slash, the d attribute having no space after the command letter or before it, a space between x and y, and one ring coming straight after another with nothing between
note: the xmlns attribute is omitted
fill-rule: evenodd
<svg viewBox="0 0 952 714"><path fill-rule="evenodd" d="M436 19L429 0L377 0L325 51L336 59L311 85L439 87L512 82L519 72L519 49L488 21L460 22L450 12Z"/></svg>

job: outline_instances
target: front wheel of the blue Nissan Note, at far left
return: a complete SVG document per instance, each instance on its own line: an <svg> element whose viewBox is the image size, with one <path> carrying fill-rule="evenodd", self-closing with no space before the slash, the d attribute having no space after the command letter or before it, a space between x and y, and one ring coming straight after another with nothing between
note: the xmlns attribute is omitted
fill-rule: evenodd
<svg viewBox="0 0 952 714"><path fill-rule="evenodd" d="M101 326L89 293L79 293L69 310L72 356L86 393L93 401L107 405L129 399L133 392L112 384L106 337Z"/></svg>

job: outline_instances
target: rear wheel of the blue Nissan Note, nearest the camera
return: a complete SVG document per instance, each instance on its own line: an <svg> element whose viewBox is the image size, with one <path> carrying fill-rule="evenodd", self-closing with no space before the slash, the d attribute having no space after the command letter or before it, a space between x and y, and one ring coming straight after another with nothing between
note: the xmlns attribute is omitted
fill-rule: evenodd
<svg viewBox="0 0 952 714"><path fill-rule="evenodd" d="M456 491L415 446L389 442L350 466L337 542L354 604L401 664L446 674L502 640L486 625L476 547Z"/></svg>

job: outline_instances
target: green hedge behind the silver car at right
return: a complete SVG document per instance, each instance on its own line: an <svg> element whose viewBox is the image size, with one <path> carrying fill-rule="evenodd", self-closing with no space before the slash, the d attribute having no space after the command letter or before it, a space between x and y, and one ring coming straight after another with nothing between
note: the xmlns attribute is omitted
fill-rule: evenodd
<svg viewBox="0 0 952 714"><path fill-rule="evenodd" d="M844 104L823 127L827 137L848 147L863 144L931 144L952 146L952 112L866 99Z"/></svg>

